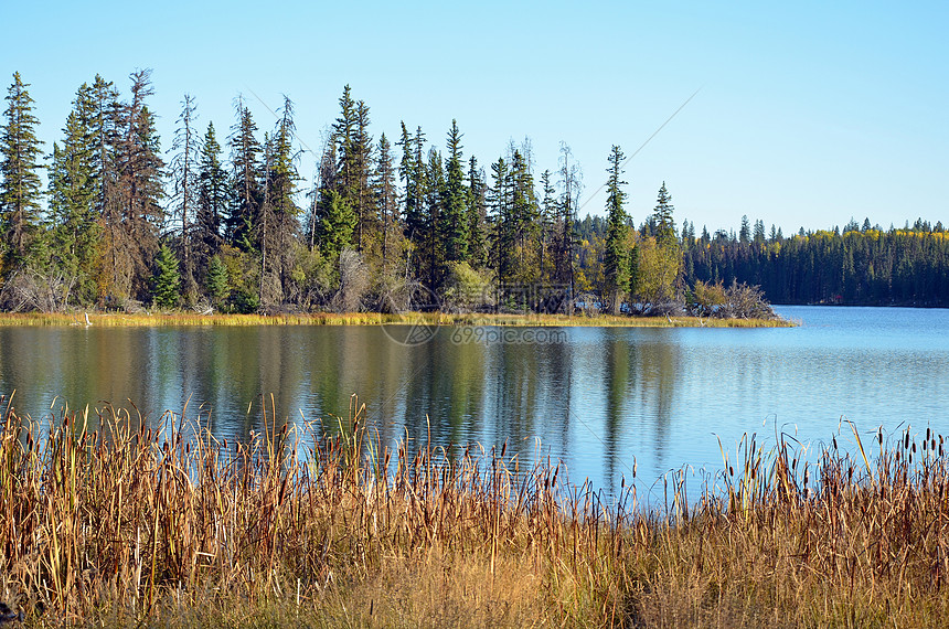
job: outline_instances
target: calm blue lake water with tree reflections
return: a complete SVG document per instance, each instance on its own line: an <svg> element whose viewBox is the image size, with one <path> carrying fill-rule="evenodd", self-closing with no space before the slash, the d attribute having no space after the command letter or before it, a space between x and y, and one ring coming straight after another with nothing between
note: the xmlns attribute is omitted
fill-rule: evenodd
<svg viewBox="0 0 949 629"><path fill-rule="evenodd" d="M507 342L499 329L447 328L412 345L393 340L409 328L0 328L0 394L15 390L34 418L64 402L131 401L154 423L190 397L191 416L201 407L215 434L246 439L262 395L280 418L332 429L358 393L384 443L413 448L429 430L444 446L507 440L604 489L635 462L647 484L683 466L717 470L718 438L734 452L746 433L818 444L842 418L867 435L949 431L949 310L777 310L802 326L564 328Z"/></svg>

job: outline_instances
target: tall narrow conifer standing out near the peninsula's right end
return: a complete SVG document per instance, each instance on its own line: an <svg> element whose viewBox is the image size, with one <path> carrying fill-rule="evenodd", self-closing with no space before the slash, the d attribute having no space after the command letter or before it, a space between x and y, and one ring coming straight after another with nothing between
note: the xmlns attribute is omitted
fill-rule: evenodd
<svg viewBox="0 0 949 629"><path fill-rule="evenodd" d="M607 234L604 253L604 277L607 282L608 299L614 314L619 313L619 306L626 286L629 284L629 259L627 237L629 234L629 217L623 209L626 192L622 191L622 150L614 145L609 154L609 179L607 180Z"/></svg>

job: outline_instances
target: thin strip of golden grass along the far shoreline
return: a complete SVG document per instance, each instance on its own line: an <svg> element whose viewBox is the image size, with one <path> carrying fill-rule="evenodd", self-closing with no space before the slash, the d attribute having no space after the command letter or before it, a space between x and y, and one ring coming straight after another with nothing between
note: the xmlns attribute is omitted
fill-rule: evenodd
<svg viewBox="0 0 949 629"><path fill-rule="evenodd" d="M515 327L635 327L635 328L776 328L792 326L783 320L699 319L696 317L567 317L565 314L452 314L414 312L381 314L377 312L305 313L305 314L196 314L171 313L0 313L0 326L378 326L385 323L424 323L428 326L515 326Z"/></svg>

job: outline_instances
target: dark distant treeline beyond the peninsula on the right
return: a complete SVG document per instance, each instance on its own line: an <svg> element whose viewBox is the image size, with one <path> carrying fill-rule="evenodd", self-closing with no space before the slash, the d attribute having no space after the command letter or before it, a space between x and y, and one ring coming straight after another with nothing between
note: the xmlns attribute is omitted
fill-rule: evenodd
<svg viewBox="0 0 949 629"><path fill-rule="evenodd" d="M653 221L638 236L653 231ZM607 221L588 216L577 224L582 271L596 273ZM785 237L780 228L743 218L738 232L719 230L696 235L689 221L682 227L679 285L695 280L725 286L734 281L759 286L775 303L840 303L860 306L949 307L949 232L918 218L884 230L850 222L843 228Z"/></svg>

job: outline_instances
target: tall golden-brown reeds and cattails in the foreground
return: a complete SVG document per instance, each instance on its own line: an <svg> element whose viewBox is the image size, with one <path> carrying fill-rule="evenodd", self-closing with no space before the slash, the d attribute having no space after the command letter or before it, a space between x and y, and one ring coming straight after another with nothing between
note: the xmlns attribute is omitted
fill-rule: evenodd
<svg viewBox="0 0 949 629"><path fill-rule="evenodd" d="M49 431L8 411L0 599L28 626L947 623L949 463L928 431L810 465L745 440L702 495L670 475L646 512L504 447L387 450L362 412L319 439L270 409L235 444L172 415Z"/></svg>

